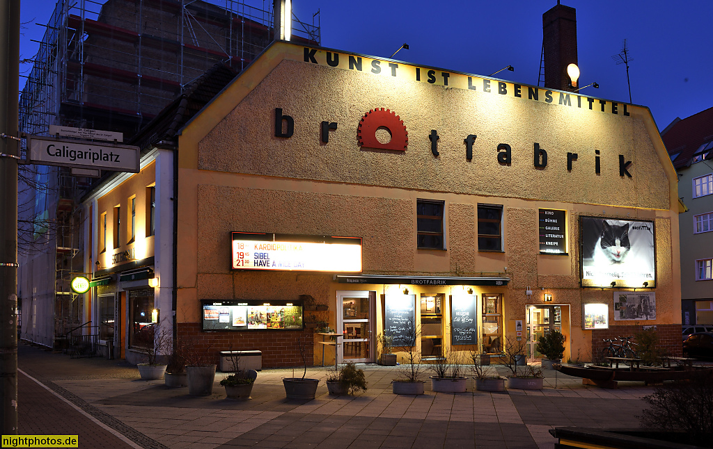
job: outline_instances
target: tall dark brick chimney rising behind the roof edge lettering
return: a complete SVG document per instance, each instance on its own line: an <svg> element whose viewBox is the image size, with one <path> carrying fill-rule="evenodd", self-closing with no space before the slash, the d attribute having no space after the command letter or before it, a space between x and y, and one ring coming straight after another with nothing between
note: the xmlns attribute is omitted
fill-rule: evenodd
<svg viewBox="0 0 713 449"><path fill-rule="evenodd" d="M567 66L577 62L577 13L570 6L557 5L542 15L545 56L545 88L574 90L569 87Z"/></svg>

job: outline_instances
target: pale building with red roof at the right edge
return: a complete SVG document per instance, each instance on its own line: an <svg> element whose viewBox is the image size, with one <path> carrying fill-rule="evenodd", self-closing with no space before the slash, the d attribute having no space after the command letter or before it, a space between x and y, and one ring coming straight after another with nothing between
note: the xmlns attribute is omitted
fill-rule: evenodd
<svg viewBox="0 0 713 449"><path fill-rule="evenodd" d="M661 133L678 172L682 323L713 324L713 107Z"/></svg>

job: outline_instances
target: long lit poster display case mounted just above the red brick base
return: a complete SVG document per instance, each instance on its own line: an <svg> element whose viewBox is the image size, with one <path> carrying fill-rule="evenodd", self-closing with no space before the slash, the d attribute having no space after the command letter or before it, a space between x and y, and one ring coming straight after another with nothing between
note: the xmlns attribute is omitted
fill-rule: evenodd
<svg viewBox="0 0 713 449"><path fill-rule="evenodd" d="M201 329L215 331L302 330L299 302L202 300Z"/></svg>

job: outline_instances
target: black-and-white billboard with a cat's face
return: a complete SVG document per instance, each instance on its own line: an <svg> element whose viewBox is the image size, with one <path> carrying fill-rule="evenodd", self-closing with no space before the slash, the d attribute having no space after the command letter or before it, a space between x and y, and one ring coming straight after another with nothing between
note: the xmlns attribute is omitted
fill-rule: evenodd
<svg viewBox="0 0 713 449"><path fill-rule="evenodd" d="M652 221L583 216L580 241L583 287L656 286Z"/></svg>

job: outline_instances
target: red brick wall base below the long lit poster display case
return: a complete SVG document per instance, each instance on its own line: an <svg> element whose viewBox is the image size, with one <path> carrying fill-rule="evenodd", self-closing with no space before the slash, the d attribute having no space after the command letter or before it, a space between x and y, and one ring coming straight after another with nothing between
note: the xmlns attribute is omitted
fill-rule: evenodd
<svg viewBox="0 0 713 449"><path fill-rule="evenodd" d="M680 331L679 331L680 333ZM200 324L178 323L179 338L185 337L191 346L209 351L215 364L219 364L218 353L227 351L232 344L233 351L262 351L264 368L302 366L297 339L307 337L307 366L314 364L314 333L302 331L245 331L245 332L202 332ZM680 338L680 337L679 337Z"/></svg>

